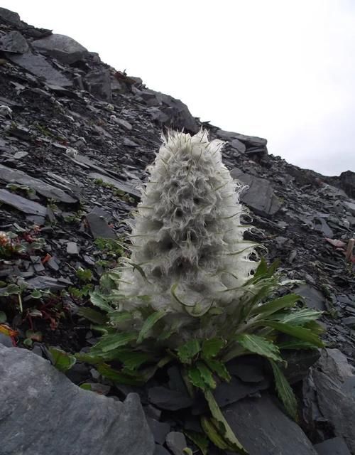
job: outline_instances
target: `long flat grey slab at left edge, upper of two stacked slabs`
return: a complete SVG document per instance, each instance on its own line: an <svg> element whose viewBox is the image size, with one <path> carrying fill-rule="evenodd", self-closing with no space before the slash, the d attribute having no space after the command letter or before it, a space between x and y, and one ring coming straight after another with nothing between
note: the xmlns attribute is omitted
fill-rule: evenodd
<svg viewBox="0 0 355 455"><path fill-rule="evenodd" d="M56 201L65 203L76 203L77 199L69 196L65 191L60 188L56 188L53 185L41 181L39 178L28 176L23 171L17 169L8 168L3 164L0 164L0 178L9 183L20 183L21 185L27 185L33 190L40 193L42 196L48 199L54 199Z"/></svg>

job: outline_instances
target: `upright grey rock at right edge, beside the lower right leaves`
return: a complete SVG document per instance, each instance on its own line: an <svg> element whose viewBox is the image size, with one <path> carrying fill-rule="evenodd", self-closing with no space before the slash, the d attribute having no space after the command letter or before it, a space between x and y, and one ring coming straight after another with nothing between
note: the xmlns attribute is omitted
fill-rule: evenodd
<svg viewBox="0 0 355 455"><path fill-rule="evenodd" d="M355 452L355 375L338 349L324 349L303 385L304 418L310 427L324 420Z"/></svg>

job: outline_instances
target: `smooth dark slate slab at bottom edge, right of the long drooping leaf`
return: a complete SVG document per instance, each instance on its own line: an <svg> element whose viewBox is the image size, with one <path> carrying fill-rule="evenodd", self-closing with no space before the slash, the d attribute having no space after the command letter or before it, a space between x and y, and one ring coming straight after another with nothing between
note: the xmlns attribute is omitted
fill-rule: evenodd
<svg viewBox="0 0 355 455"><path fill-rule="evenodd" d="M252 455L317 455L302 429L267 393L245 398L223 410L224 417Z"/></svg>

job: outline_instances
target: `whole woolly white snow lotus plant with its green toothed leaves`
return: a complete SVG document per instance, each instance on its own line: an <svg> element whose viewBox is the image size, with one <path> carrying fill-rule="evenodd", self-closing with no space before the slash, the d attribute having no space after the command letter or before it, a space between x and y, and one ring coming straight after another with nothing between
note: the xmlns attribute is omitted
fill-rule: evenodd
<svg viewBox="0 0 355 455"><path fill-rule="evenodd" d="M211 410L202 427L214 443L246 453L219 411L212 390L230 379L226 362L254 353L270 360L285 409L296 402L280 365L280 349L322 346L319 316L300 296L277 296L275 264L244 240L242 187L222 164L222 142L207 132L170 132L142 190L121 266L102 277L92 303L107 312L103 336L82 360L112 380L140 384L178 362L191 392L204 392ZM82 314L103 322L92 309ZM111 368L117 361L121 368Z"/></svg>

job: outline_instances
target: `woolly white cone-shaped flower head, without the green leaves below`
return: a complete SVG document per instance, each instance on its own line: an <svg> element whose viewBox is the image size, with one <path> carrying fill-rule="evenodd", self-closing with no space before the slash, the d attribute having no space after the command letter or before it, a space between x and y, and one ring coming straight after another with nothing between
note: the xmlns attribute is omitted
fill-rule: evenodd
<svg viewBox="0 0 355 455"><path fill-rule="evenodd" d="M187 319L237 304L258 263L249 259L253 242L243 240L242 187L222 164L222 145L204 130L163 137L119 281L124 309L141 306L143 295L151 296L154 309Z"/></svg>

